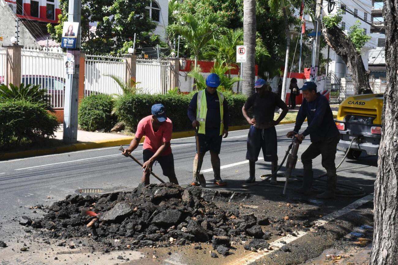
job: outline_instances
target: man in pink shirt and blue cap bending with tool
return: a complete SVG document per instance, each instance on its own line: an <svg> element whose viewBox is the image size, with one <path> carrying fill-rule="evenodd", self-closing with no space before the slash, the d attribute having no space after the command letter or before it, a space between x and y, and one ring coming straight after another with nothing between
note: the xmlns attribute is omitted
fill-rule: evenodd
<svg viewBox="0 0 398 265"><path fill-rule="evenodd" d="M146 116L137 126L137 133L131 140L129 148L123 152L129 156L137 148L142 136L145 136L144 147L142 150L143 173L141 181L145 185L149 184L149 175L152 171L152 165L158 161L162 167L163 175L169 178L171 183L178 185L176 172L174 171L174 157L170 140L172 139L173 123L166 117L166 112L162 104L152 106L152 115Z"/></svg>

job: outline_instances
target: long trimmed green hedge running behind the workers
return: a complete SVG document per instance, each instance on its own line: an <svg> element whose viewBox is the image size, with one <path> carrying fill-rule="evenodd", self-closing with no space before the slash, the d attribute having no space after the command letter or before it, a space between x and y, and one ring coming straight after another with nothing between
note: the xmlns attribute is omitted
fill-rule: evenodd
<svg viewBox="0 0 398 265"><path fill-rule="evenodd" d="M186 131L192 129L187 110L193 94L124 95L116 100L115 110L119 121L125 122L128 127L135 131L140 119L151 114L152 105L162 103L166 108L167 117L173 122L173 131ZM230 110L230 126L245 124L246 120L242 115L242 107L246 101L246 96L230 92L224 92L224 95Z"/></svg>

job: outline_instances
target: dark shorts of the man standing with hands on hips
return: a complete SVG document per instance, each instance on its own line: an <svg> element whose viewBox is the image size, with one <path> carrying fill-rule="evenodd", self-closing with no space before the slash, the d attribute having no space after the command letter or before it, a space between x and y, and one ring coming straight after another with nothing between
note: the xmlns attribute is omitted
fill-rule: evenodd
<svg viewBox="0 0 398 265"><path fill-rule="evenodd" d="M250 126L247 146L247 160L256 162L260 154L260 149L263 149L264 161L277 161L278 153L275 126L268 129L257 129L253 125Z"/></svg>

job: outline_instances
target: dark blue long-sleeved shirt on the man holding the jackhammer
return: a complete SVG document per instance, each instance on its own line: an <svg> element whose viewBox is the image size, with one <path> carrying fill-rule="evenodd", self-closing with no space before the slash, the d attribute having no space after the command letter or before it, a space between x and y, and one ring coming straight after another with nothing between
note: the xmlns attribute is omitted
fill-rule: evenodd
<svg viewBox="0 0 398 265"><path fill-rule="evenodd" d="M303 99L301 107L298 110L294 129L295 133L298 133L302 123L307 118L308 127L302 134L304 136L310 134L311 142L319 142L339 135L328 99L319 92L317 95L316 99L311 102Z"/></svg>

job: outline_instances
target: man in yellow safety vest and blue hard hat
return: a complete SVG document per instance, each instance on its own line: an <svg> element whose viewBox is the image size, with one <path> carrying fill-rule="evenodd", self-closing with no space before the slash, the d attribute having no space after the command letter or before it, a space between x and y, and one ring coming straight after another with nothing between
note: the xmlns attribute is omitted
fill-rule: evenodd
<svg viewBox="0 0 398 265"><path fill-rule="evenodd" d="M224 95L217 91L220 86L220 77L210 74L206 78L206 89L193 95L188 107L188 117L192 121L192 127L197 128L199 136L199 154L196 151L193 160L193 181L191 185L199 185L197 169L202 167L203 156L210 151L211 166L214 172L213 183L225 186L226 182L220 175L220 150L222 136L228 136L228 103ZM198 148L198 147L197 147ZM201 183L203 184L203 183Z"/></svg>

